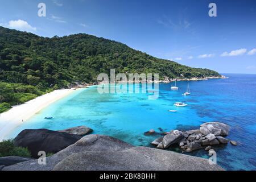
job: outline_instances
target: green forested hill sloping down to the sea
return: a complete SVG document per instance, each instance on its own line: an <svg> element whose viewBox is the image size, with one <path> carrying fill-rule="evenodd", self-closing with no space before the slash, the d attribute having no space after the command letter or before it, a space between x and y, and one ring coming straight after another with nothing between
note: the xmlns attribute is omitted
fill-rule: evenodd
<svg viewBox="0 0 256 182"><path fill-rule="evenodd" d="M0 27L1 84L19 83L47 92L48 88L64 88L74 82L97 81L97 75L109 73L110 68L115 68L116 73L159 73L160 80L164 76L175 78L181 74L188 78L219 76L209 69L157 59L125 44L92 35L43 38ZM0 102L9 102L1 92ZM18 91L14 89L13 92Z"/></svg>

